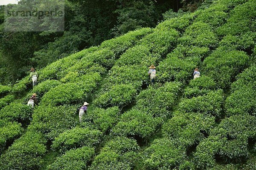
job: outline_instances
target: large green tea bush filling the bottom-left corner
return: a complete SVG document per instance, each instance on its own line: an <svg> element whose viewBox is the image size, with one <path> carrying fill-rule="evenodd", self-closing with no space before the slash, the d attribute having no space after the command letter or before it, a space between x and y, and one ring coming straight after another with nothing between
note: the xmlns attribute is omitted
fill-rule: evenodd
<svg viewBox="0 0 256 170"><path fill-rule="evenodd" d="M46 153L41 133L26 132L0 156L0 170L38 170Z"/></svg>

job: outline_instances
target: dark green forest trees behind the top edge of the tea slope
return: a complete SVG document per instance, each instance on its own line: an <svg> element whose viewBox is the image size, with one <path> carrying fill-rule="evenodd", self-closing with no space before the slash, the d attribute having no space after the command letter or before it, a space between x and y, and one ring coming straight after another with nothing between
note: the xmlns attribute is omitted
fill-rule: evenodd
<svg viewBox="0 0 256 170"><path fill-rule="evenodd" d="M31 2L20 0L19 4ZM59 58L128 31L154 27L164 17L177 15L175 12L181 7L193 11L201 3L191 0L65 0L65 32L4 32L1 24L0 84L14 84L31 67L41 69ZM1 23L3 9L2 6Z"/></svg>

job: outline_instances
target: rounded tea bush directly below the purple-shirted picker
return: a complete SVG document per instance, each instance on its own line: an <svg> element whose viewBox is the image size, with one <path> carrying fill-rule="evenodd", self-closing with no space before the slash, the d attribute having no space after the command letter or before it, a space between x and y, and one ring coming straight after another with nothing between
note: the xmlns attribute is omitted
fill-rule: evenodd
<svg viewBox="0 0 256 170"><path fill-rule="evenodd" d="M61 133L52 143L52 149L64 153L73 148L93 147L99 144L102 133L99 130L75 127Z"/></svg>

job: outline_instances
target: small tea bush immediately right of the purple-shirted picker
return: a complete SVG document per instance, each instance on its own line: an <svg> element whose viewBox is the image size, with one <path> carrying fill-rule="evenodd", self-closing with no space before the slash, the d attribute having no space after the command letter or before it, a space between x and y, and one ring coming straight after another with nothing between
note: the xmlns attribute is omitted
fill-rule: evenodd
<svg viewBox="0 0 256 170"><path fill-rule="evenodd" d="M118 121L119 108L118 107L110 107L108 109L101 108L88 108L87 114L84 115L84 120L93 121L96 126L102 130L102 132L106 132L111 130L114 124Z"/></svg>

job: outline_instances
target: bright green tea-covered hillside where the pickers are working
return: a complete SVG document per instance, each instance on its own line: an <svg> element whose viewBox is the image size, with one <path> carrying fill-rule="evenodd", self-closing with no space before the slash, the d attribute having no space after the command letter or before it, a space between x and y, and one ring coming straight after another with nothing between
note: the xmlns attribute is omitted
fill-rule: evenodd
<svg viewBox="0 0 256 170"><path fill-rule="evenodd" d="M256 0L216 0L0 86L0 170L256 169L255 30Z"/></svg>

